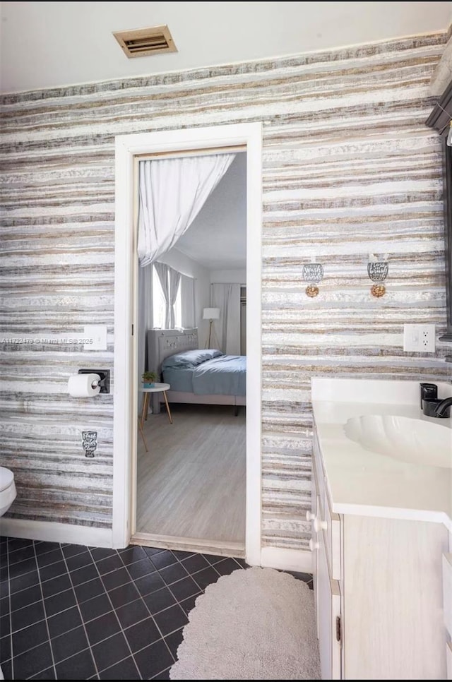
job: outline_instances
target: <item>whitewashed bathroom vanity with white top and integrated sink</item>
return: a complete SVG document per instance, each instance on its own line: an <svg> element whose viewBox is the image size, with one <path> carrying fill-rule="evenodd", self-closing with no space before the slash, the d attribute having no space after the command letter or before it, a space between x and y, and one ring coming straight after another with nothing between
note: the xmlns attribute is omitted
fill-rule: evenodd
<svg viewBox="0 0 452 682"><path fill-rule="evenodd" d="M312 400L322 678L452 679L452 419L415 381L314 378Z"/></svg>

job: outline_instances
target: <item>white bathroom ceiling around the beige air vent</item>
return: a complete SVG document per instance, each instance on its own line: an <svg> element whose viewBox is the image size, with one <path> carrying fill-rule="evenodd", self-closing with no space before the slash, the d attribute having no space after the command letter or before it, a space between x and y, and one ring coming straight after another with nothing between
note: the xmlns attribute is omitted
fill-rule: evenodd
<svg viewBox="0 0 452 682"><path fill-rule="evenodd" d="M444 30L451 2L2 2L1 90L148 75ZM127 59L113 31L167 24Z"/></svg>

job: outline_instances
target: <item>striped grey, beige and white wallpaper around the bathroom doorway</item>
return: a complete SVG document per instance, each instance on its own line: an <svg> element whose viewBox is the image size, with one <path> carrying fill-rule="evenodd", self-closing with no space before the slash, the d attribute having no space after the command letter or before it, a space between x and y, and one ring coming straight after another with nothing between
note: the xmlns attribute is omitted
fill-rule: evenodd
<svg viewBox="0 0 452 682"><path fill-rule="evenodd" d="M109 527L112 396L66 395L112 369L114 136L263 121L263 545L309 539L311 376L447 376L407 354L405 322L444 330L441 149L424 126L446 33L3 97L1 462L16 518ZM374 299L369 253L388 253ZM304 293L316 258L320 294ZM107 352L49 343L108 325ZM8 342L8 335L45 342ZM450 351L449 351L450 352ZM99 445L85 459L81 431Z"/></svg>

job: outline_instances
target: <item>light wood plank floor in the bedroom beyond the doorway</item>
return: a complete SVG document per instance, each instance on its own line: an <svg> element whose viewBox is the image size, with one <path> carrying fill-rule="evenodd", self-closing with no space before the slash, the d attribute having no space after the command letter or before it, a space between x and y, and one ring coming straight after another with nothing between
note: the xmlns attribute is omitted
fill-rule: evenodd
<svg viewBox="0 0 452 682"><path fill-rule="evenodd" d="M245 541L245 408L172 405L138 433L136 531Z"/></svg>

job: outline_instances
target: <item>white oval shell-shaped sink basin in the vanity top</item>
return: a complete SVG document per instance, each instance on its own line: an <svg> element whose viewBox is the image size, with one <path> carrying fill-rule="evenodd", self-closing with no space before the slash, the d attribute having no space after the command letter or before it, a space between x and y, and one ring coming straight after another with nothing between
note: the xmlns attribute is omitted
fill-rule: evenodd
<svg viewBox="0 0 452 682"><path fill-rule="evenodd" d="M351 441L374 453L410 464L452 469L452 430L441 421L434 424L393 414L367 414L349 419L344 431Z"/></svg>

